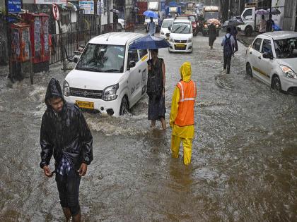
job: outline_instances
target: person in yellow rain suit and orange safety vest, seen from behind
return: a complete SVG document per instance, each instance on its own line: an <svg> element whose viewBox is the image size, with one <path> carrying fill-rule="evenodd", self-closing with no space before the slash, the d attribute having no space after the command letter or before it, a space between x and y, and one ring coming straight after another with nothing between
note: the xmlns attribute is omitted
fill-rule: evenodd
<svg viewBox="0 0 297 222"><path fill-rule="evenodd" d="M184 164L191 163L192 139L194 137L194 103L197 96L196 84L191 80L190 62L180 67L181 80L173 92L170 111L170 128L172 128L171 150L173 158L178 158L180 142L184 148Z"/></svg>

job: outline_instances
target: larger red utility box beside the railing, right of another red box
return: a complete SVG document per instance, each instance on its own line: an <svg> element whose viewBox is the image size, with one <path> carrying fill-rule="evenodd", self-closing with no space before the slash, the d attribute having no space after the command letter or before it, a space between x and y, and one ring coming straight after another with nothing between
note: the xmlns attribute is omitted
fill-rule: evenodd
<svg viewBox="0 0 297 222"><path fill-rule="evenodd" d="M33 72L49 70L49 16L45 13L24 13L21 15L30 25L30 41L33 57Z"/></svg>

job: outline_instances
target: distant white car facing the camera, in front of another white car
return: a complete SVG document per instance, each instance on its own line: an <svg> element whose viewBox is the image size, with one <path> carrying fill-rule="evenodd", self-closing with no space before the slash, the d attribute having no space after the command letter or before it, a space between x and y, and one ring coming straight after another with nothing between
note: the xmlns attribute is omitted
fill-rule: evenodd
<svg viewBox="0 0 297 222"><path fill-rule="evenodd" d="M180 18L173 21L170 29L169 43L169 52L193 51L192 23L189 19Z"/></svg>

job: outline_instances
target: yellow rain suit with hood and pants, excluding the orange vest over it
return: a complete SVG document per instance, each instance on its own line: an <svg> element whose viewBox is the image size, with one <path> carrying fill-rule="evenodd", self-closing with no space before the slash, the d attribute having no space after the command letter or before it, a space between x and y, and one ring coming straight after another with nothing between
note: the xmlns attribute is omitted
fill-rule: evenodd
<svg viewBox="0 0 297 222"><path fill-rule="evenodd" d="M185 64L185 63L184 63ZM180 68L180 77L185 82L190 82L192 70L189 66L184 66ZM178 126L175 125L175 118L178 112L178 103L180 101L180 89L175 87L173 92L173 100L171 103L170 111L170 127L172 128L171 137L171 150L173 152L173 158L178 157L178 152L180 151L180 142L182 142L184 148L184 164L189 165L191 163L192 156L192 139L194 137L194 125Z"/></svg>

